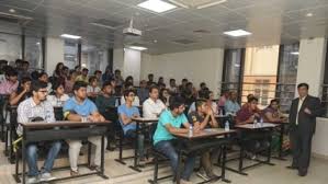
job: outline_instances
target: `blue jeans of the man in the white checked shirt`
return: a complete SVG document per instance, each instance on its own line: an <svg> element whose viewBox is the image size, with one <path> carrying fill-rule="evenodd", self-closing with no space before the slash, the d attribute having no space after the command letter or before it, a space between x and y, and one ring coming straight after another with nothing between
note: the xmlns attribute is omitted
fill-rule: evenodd
<svg viewBox="0 0 328 184"><path fill-rule="evenodd" d="M47 158L44 162L41 173L50 173L54 166L54 161L59 153L61 148L60 141L52 142L50 150L48 151ZM26 161L29 165L29 176L37 176L38 169L37 169L37 145L30 143L26 146Z"/></svg>

